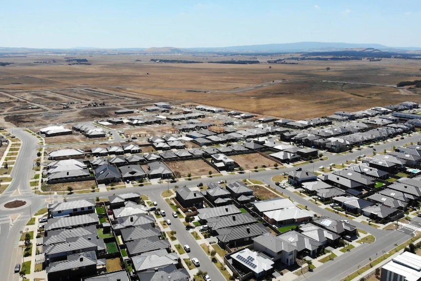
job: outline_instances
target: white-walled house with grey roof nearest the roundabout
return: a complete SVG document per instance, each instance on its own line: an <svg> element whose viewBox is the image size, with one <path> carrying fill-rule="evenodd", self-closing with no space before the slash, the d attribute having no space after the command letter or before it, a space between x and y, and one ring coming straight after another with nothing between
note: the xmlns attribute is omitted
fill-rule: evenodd
<svg viewBox="0 0 421 281"><path fill-rule="evenodd" d="M95 213L94 199L48 204L48 217L77 216Z"/></svg>

